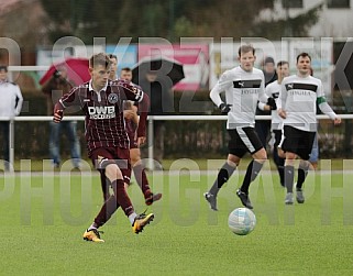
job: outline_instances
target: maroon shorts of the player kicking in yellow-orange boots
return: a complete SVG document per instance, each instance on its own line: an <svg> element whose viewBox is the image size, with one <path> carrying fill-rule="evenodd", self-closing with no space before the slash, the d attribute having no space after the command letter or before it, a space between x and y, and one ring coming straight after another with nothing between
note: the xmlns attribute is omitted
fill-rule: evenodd
<svg viewBox="0 0 353 276"><path fill-rule="evenodd" d="M102 173L109 164L117 164L122 173L124 183L130 184L131 164L129 148L98 147L92 151L91 161L100 173Z"/></svg>

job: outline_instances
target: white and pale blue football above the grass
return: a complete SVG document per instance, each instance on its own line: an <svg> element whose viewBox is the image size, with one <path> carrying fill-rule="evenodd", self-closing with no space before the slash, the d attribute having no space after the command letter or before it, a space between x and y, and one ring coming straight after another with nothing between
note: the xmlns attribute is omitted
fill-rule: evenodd
<svg viewBox="0 0 353 276"><path fill-rule="evenodd" d="M229 214L228 225L234 234L247 235L256 225L256 217L247 208L236 208Z"/></svg>

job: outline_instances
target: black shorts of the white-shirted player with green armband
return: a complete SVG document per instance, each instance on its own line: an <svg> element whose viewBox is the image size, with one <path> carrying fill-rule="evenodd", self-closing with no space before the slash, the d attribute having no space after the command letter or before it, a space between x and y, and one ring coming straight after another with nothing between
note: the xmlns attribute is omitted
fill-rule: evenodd
<svg viewBox="0 0 353 276"><path fill-rule="evenodd" d="M290 125L285 125L279 146L283 151L295 153L301 159L308 161L316 134L316 132L301 131Z"/></svg>

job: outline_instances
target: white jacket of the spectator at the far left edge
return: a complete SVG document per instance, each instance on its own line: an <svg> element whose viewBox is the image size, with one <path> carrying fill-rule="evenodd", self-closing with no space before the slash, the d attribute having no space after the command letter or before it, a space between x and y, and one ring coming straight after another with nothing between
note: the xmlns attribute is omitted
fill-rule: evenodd
<svg viewBox="0 0 353 276"><path fill-rule="evenodd" d="M23 97L18 85L0 82L0 117L15 117L22 109Z"/></svg>

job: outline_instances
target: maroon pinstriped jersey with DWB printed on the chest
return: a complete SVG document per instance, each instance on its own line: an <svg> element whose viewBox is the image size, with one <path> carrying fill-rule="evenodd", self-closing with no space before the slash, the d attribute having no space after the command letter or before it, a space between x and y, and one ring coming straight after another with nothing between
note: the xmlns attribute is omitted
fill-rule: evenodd
<svg viewBox="0 0 353 276"><path fill-rule="evenodd" d="M86 82L63 96L55 110L78 106L85 112L85 135L88 155L98 147L129 148L129 137L123 117L124 100L140 102L137 136L145 136L148 97L139 87L125 80L109 81L96 92L91 82Z"/></svg>

